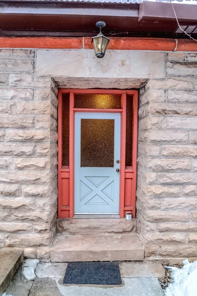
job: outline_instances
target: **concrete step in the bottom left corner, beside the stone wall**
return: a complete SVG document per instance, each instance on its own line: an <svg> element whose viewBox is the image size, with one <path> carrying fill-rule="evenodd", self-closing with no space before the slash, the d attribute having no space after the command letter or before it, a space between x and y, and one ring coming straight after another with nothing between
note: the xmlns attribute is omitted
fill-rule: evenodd
<svg viewBox="0 0 197 296"><path fill-rule="evenodd" d="M15 272L23 262L23 250L0 249L0 296L5 291Z"/></svg>

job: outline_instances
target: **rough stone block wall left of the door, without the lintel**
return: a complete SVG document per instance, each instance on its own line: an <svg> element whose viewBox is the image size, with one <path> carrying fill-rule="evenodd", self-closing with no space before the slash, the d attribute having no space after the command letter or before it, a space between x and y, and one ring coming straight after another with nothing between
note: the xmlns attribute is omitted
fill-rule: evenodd
<svg viewBox="0 0 197 296"><path fill-rule="evenodd" d="M0 247L44 258L57 218L58 101L34 69L34 50L0 50Z"/></svg>

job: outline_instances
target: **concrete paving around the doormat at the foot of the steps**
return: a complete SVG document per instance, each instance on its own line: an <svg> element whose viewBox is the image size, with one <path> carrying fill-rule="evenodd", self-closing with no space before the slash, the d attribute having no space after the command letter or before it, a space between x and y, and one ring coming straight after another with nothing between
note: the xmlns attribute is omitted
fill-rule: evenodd
<svg viewBox="0 0 197 296"><path fill-rule="evenodd" d="M28 281L19 269L3 296L164 296L158 278L160 263L120 263L121 286L65 285L66 263L39 263L36 279Z"/></svg>

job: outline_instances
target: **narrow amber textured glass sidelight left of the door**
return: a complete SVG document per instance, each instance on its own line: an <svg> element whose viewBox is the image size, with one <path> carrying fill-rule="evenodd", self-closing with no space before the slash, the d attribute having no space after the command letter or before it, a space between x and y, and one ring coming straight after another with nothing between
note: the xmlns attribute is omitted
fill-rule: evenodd
<svg viewBox="0 0 197 296"><path fill-rule="evenodd" d="M62 166L69 166L69 93L62 95Z"/></svg>

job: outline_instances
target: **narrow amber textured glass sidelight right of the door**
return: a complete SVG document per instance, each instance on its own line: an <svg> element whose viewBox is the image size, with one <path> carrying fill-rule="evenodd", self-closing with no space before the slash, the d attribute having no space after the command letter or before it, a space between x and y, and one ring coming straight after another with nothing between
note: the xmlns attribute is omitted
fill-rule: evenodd
<svg viewBox="0 0 197 296"><path fill-rule="evenodd" d="M126 159L125 166L132 166L132 137L133 137L133 97L127 95L127 116L126 116Z"/></svg>

